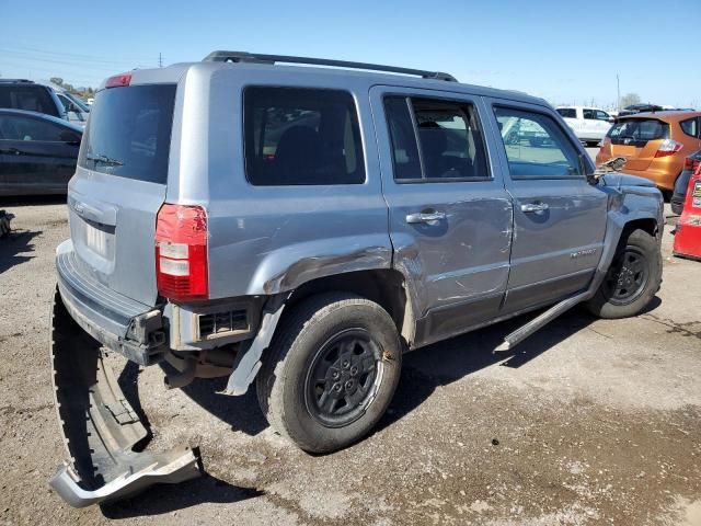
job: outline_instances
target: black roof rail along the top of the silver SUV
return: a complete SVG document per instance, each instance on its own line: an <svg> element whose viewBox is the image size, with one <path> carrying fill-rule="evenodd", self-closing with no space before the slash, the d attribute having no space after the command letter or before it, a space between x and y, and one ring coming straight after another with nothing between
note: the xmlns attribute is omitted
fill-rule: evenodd
<svg viewBox="0 0 701 526"><path fill-rule="evenodd" d="M246 52L211 52L203 61L205 62L249 62L249 64L309 64L313 66L331 66L334 68L368 69L371 71L386 71L389 73L414 75L424 79L446 80L457 82L450 73L441 71L424 71L422 69L395 68L378 64L350 62L346 60L330 60L326 58L292 57L286 55L260 55Z"/></svg>

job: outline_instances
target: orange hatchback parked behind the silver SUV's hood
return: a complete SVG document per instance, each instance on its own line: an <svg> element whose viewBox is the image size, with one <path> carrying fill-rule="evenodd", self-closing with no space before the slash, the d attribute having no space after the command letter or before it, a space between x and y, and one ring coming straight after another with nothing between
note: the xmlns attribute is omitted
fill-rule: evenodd
<svg viewBox="0 0 701 526"><path fill-rule="evenodd" d="M628 159L623 172L650 179L670 194L685 159L701 149L701 112L652 112L616 119L596 156Z"/></svg>

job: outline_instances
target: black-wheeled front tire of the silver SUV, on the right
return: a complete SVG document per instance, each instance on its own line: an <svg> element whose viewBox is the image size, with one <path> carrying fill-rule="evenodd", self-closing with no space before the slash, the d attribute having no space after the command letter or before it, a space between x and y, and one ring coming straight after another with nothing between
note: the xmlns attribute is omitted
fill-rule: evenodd
<svg viewBox="0 0 701 526"><path fill-rule="evenodd" d="M632 230L619 243L611 266L586 306L600 318L639 315L662 284L662 253L657 240L644 230Z"/></svg>

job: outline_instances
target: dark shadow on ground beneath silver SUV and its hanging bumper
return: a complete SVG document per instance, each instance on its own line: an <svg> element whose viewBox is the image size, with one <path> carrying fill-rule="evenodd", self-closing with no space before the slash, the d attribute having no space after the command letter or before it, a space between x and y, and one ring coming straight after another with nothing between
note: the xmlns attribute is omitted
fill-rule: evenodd
<svg viewBox="0 0 701 526"><path fill-rule="evenodd" d="M655 297L645 312L654 310L660 304L659 298ZM539 312L521 316L405 355L399 388L390 410L376 427L376 432L411 413L437 387L449 385L497 363L501 363L502 367L518 368L587 328L596 319L584 309L575 308L514 350L493 353L506 334L538 315ZM138 366L129 364L119 376L119 385L148 427L148 421L138 402L137 376ZM196 380L183 388L183 391L211 414L231 425L233 430L256 435L267 427L267 422L258 409L254 389L249 389L243 397L217 395L217 391L226 387L226 381L227 378ZM235 487L204 473L200 479L181 484L157 485L133 499L102 505L102 512L108 518L128 518L170 513L206 502L234 503L263 494L264 492L260 490Z"/></svg>

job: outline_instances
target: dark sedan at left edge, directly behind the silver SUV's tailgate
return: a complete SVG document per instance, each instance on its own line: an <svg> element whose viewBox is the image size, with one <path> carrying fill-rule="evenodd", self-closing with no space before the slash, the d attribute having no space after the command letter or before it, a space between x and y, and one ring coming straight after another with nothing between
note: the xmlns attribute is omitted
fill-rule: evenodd
<svg viewBox="0 0 701 526"><path fill-rule="evenodd" d="M0 195L65 194L81 137L60 118L0 110Z"/></svg>

